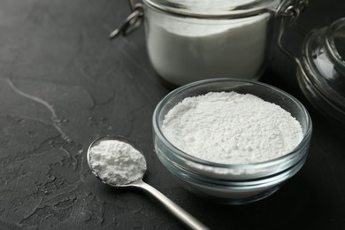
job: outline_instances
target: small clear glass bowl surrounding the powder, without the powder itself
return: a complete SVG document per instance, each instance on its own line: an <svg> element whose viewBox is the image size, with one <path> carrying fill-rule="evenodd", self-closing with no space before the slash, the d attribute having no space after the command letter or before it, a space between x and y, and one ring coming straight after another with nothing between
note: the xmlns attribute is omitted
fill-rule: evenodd
<svg viewBox="0 0 345 230"><path fill-rule="evenodd" d="M258 96L288 111L301 125L302 141L282 157L250 164L222 164L193 157L176 148L162 132L165 115L190 96L209 92ZM153 115L154 145L163 165L188 190L217 203L250 203L270 196L303 166L311 142L311 118L303 104L279 88L252 80L201 80L175 89L158 103ZM217 154L215 152L214 154Z"/></svg>

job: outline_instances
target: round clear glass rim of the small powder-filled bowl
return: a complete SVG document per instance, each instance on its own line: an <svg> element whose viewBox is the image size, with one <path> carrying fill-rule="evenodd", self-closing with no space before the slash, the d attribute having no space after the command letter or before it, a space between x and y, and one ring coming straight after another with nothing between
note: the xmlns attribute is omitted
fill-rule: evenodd
<svg viewBox="0 0 345 230"><path fill-rule="evenodd" d="M203 160L201 158L189 155L188 153L175 147L173 145L173 143L169 142L165 138L165 135L163 134L160 126L158 126L158 115L159 115L158 111L161 111L161 108L165 105L165 103L169 102L173 96L178 95L180 92L183 92L189 88L194 88L196 86L201 86L201 85L205 85L205 84L207 85L207 84L211 84L214 82L222 82L222 81L223 82L228 81L228 82L249 83L249 84L257 85L259 87L273 89L273 90L279 92L280 94L287 96L291 101L293 101L301 109L301 111L303 111L303 114L306 118L306 129L305 129L305 132L303 132L302 141L299 142L299 144L295 147L295 149L291 150L289 153L287 153L283 156L272 158L272 159L266 160L266 161L257 162L257 163L250 163L250 164L223 164L223 163L211 162L211 161ZM269 84L266 84L263 82L259 82L256 80L242 80L242 79L236 79L236 78L213 78L213 79L206 79L206 80L197 80L197 81L194 81L192 83L181 86L180 88L174 89L169 94L167 94L157 104L155 111L153 113L153 116L152 116L152 123L153 123L154 132L158 136L159 140L161 142L164 142L165 146L167 146L169 149L173 149L173 152L174 152L174 154L177 155L177 157L188 159L189 161L191 161L192 163L195 163L196 165L226 168L226 169L249 169L249 168L255 169L255 168L261 168L263 166L267 167L270 165L276 165L277 162L284 161L286 158L289 158L289 157L294 157L295 154L298 155L298 153L300 153L300 149L303 149L305 147L305 145L308 143L308 140L311 138L311 133L312 133L311 116L310 116L309 112L306 110L306 108L304 107L303 103L298 101L295 98L295 96L291 96L290 94L288 94L284 90L282 90L280 88L276 88L272 85L269 85ZM306 153L307 152L304 152L304 155Z"/></svg>

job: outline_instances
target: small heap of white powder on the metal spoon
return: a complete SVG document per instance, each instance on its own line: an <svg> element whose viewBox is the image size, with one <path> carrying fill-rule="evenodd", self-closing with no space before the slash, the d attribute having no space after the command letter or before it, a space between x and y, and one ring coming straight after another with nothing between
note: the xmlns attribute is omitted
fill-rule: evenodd
<svg viewBox="0 0 345 230"><path fill-rule="evenodd" d="M142 178L146 160L126 142L105 140L89 151L90 165L97 175L112 185L125 185Z"/></svg>

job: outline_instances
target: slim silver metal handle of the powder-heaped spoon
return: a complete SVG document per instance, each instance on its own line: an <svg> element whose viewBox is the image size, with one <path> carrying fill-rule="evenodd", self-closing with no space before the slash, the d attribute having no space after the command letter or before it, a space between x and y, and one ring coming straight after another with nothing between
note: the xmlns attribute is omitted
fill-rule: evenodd
<svg viewBox="0 0 345 230"><path fill-rule="evenodd" d="M201 223L199 220L190 215L187 211L184 211L179 205L177 205L168 197L159 192L156 188L153 188L152 186L143 182L142 180L138 181L138 183L135 184L136 186L134 184L133 186L137 188L142 188L142 190L149 193L151 196L157 198L157 200L160 203L162 203L168 211L171 211L173 215L175 215L178 219L180 219L191 229L209 229L207 226L204 226L203 223Z"/></svg>

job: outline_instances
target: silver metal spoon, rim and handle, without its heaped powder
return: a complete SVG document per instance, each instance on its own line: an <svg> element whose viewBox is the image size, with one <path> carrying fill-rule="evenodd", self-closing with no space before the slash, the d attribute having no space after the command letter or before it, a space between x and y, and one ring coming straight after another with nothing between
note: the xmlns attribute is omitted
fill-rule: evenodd
<svg viewBox="0 0 345 230"><path fill-rule="evenodd" d="M115 188L139 188L139 189L142 189L144 192L155 197L157 199L157 201L162 203L163 206L165 206L165 208L168 211L171 211L173 213L173 215L175 215L175 217L180 219L184 224L186 224L190 228L192 228L192 229L209 229L207 226L204 226L199 220L197 220L193 216L191 216L187 211L184 211L179 205L177 205L172 200L170 200L168 197L166 197L161 192L159 192L156 188L153 188L149 184L142 181L142 177L145 173L146 167L145 167L145 170L142 170L142 175L141 175L139 180L130 181L129 183L126 183L126 184L119 184L119 183L114 184L114 183L110 183L110 182L103 180L98 175L98 173L96 172L96 170L92 167L92 165L90 163L90 158L91 158L90 155L92 155L91 149L95 148L96 145L100 144L103 141L111 141L111 140L112 141L125 142L127 144L130 144L134 148L134 145L132 143L128 142L125 137L121 137L121 136L105 136L105 137L98 138L94 142L92 142L90 144L90 146L88 147L88 166L89 166L91 172L94 173L98 179L100 179L103 183L109 184ZM140 153L142 154L141 151L140 151ZM143 155L142 155L142 160L144 161L144 164L146 165L146 160L145 160L145 157L143 157Z"/></svg>

